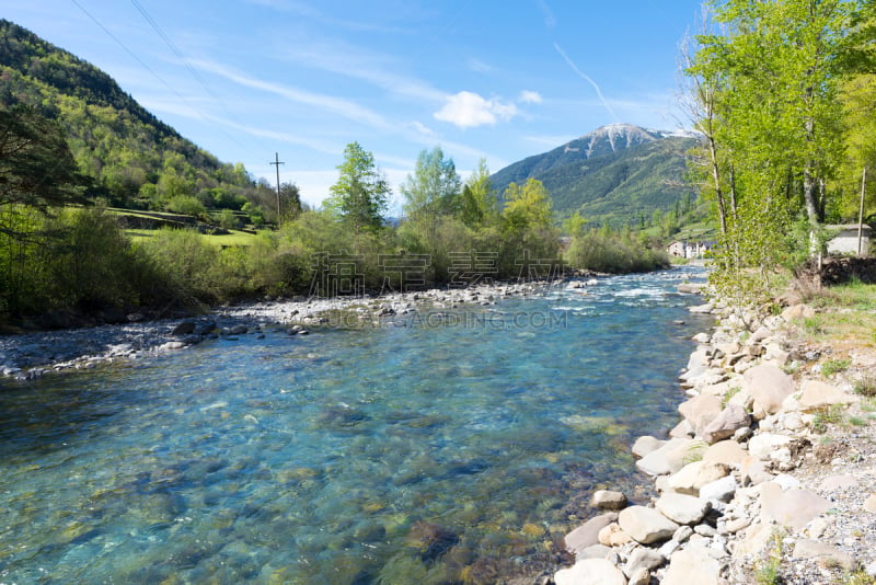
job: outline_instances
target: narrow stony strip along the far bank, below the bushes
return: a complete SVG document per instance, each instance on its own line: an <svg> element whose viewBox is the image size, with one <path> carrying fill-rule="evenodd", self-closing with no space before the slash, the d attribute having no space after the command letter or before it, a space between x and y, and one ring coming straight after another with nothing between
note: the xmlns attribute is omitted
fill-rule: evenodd
<svg viewBox="0 0 876 585"><path fill-rule="evenodd" d="M280 326L290 335L304 335L315 326L373 326L418 309L493 305L503 298L537 294L548 283L533 282L380 297L277 299L218 308L182 320L146 321L140 314L130 314L126 324L3 335L0 380L3 377L27 380L53 371L90 369L184 349L209 339L263 335L268 328Z"/></svg>

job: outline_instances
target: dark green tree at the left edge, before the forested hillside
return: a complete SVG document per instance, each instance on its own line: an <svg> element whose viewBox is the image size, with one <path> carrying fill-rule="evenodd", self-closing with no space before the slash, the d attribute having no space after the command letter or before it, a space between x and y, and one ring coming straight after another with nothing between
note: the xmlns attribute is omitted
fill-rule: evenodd
<svg viewBox="0 0 876 585"><path fill-rule="evenodd" d="M19 206L47 214L82 203L83 184L60 125L33 107L0 110L0 233L25 237L15 227Z"/></svg>

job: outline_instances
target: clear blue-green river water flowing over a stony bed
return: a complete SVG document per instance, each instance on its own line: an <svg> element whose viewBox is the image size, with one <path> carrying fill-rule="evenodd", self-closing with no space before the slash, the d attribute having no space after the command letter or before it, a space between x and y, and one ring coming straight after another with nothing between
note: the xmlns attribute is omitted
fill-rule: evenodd
<svg viewBox="0 0 876 585"><path fill-rule="evenodd" d="M690 271L0 392L0 583L495 583L673 425ZM687 324L677 324L684 320ZM635 493L630 487L631 493ZM573 516L573 519L569 517Z"/></svg>

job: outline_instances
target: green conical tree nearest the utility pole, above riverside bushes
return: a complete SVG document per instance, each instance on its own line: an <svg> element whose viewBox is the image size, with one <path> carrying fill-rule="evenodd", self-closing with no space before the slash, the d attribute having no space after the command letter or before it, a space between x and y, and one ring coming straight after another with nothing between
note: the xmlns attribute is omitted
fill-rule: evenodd
<svg viewBox="0 0 876 585"><path fill-rule="evenodd" d="M391 192L383 173L374 165L374 157L362 149L359 142L350 142L344 149L344 162L337 183L331 187L326 207L341 216L343 221L359 230L379 230L383 227L383 214Z"/></svg>

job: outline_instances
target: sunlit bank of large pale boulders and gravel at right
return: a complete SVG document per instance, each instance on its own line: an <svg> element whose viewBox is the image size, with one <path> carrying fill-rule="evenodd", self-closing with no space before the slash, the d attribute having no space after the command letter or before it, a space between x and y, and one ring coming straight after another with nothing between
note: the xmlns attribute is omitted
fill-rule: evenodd
<svg viewBox="0 0 876 585"><path fill-rule="evenodd" d="M596 492L601 514L566 535L576 562L554 583L876 583L876 399L855 392L872 344L829 371L830 348L795 334L811 307L692 310L718 324L694 337L681 422L632 446L659 496Z"/></svg>

